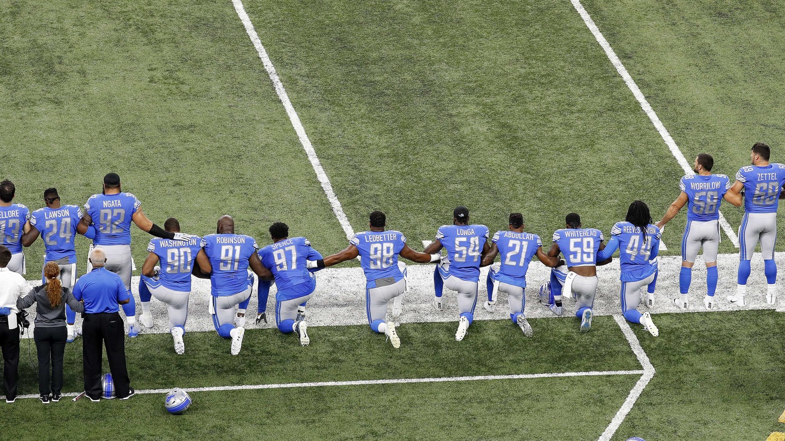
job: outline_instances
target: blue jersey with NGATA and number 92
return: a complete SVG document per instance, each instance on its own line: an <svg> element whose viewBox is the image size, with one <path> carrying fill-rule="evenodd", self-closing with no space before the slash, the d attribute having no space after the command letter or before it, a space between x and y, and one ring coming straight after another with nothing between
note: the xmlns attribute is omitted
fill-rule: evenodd
<svg viewBox="0 0 785 441"><path fill-rule="evenodd" d="M131 222L141 202L130 193L92 195L87 199L85 212L96 228L95 245L130 245Z"/></svg>

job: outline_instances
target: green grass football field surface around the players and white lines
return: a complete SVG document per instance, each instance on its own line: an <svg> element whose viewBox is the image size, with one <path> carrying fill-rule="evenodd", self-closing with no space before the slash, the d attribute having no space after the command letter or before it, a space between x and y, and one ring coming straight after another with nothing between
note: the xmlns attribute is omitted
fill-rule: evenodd
<svg viewBox="0 0 785 441"><path fill-rule="evenodd" d="M678 195L676 159L567 0L244 5L355 229L384 210L418 247L466 205L491 229L520 211L547 238L570 211L608 231L633 199L659 218ZM758 140L785 162L785 5L584 5L689 162L707 151L732 176ZM0 0L0 121L0 179L31 209L53 186L82 205L115 171L158 224L174 216L204 235L228 213L260 244L284 221L323 253L345 247L228 0ZM741 210L723 213L737 228ZM666 229L667 253L681 252L684 224ZM134 231L137 264L148 239ZM40 241L28 250L28 279L42 254ZM782 322L775 312L659 315L669 331L658 339L636 330L657 373L613 439L765 439L785 408ZM581 336L564 320L533 325L524 341L509 323L476 323L459 346L451 323L405 325L399 352L366 326L314 328L309 348L249 330L239 357L214 333L188 333L181 357L166 334L128 351L139 389L641 369L609 317ZM35 352L23 352L21 392L35 393ZM68 392L81 390L80 359L69 346ZM165 414L162 395L26 399L3 414L25 428L19 439L53 434L42 419L84 439L597 439L637 378L195 392L181 417ZM139 422L118 428L129 414Z"/></svg>

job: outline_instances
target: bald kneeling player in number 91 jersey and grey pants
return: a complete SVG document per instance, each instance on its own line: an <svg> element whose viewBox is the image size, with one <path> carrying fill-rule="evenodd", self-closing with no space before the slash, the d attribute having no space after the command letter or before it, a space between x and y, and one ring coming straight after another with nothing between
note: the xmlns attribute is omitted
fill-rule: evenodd
<svg viewBox="0 0 785 441"><path fill-rule="evenodd" d="M216 234L204 236L201 246L196 263L203 274L210 275L213 325L218 335L232 339L232 355L237 355L243 347L245 313L254 288L254 275L248 268L262 279L272 279L272 274L259 260L256 240L235 234L231 216L218 219Z"/></svg>

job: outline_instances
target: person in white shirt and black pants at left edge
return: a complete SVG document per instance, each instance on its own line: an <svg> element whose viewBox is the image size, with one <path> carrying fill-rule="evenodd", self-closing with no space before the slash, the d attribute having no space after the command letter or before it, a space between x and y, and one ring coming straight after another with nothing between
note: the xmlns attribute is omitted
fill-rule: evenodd
<svg viewBox="0 0 785 441"><path fill-rule="evenodd" d="M16 400L16 384L19 381L19 327L16 323L16 300L27 291L27 281L16 272L9 271L11 251L0 245L0 347L3 367L3 391L5 403Z"/></svg>

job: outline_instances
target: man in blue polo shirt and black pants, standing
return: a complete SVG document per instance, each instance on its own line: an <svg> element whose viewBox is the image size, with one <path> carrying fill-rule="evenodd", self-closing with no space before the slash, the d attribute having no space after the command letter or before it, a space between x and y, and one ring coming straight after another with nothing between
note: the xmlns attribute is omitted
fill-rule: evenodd
<svg viewBox="0 0 785 441"><path fill-rule="evenodd" d="M93 250L89 261L93 271L82 275L74 286L74 297L85 303L82 314L85 395L91 401L100 399L101 346L105 344L115 396L129 399L134 392L126 368L126 326L119 315L119 305L129 302L129 293L120 276L104 268L103 250Z"/></svg>

